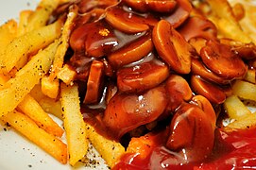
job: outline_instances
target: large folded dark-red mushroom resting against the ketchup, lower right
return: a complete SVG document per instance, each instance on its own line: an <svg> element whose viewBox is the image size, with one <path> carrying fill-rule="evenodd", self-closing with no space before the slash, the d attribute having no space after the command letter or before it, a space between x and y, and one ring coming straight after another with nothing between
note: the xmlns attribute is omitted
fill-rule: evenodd
<svg viewBox="0 0 256 170"><path fill-rule="evenodd" d="M208 115L194 104L183 103L170 124L166 147L178 152L187 163L206 159L213 143L214 128Z"/></svg>

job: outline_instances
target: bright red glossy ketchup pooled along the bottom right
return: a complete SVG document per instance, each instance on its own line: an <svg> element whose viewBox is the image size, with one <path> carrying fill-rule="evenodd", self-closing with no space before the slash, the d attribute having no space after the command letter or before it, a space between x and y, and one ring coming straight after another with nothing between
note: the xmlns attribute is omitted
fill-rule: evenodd
<svg viewBox="0 0 256 170"><path fill-rule="evenodd" d="M162 135L163 134L163 135ZM145 159L138 154L127 154L113 169L242 169L255 168L256 129L225 132L215 130L215 144L212 155L203 162L182 164L175 152L163 146L164 131L151 137L154 141L152 151ZM166 137L166 135L165 135Z"/></svg>

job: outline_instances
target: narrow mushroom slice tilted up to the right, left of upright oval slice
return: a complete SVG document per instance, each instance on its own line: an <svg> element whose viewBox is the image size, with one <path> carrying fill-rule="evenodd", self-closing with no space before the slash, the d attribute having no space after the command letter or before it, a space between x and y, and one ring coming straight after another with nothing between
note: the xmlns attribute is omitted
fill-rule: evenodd
<svg viewBox="0 0 256 170"><path fill-rule="evenodd" d="M153 50L151 34L146 34L136 42L130 42L122 48L112 52L108 59L115 68L144 58Z"/></svg>

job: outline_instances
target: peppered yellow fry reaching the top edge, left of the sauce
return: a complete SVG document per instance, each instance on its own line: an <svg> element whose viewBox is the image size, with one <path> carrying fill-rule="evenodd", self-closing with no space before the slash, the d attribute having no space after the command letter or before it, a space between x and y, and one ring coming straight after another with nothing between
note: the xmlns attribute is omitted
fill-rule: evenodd
<svg viewBox="0 0 256 170"><path fill-rule="evenodd" d="M26 32L45 26L50 15L60 4L60 0L41 0L36 10L29 16Z"/></svg>

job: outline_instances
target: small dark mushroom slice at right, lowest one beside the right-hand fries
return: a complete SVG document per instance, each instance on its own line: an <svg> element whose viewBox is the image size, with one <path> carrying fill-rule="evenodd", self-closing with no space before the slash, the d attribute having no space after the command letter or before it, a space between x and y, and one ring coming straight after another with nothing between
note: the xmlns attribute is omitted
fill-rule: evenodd
<svg viewBox="0 0 256 170"><path fill-rule="evenodd" d="M226 94L217 85L200 76L191 76L191 88L195 93L205 96L213 104L221 104L226 99Z"/></svg>

